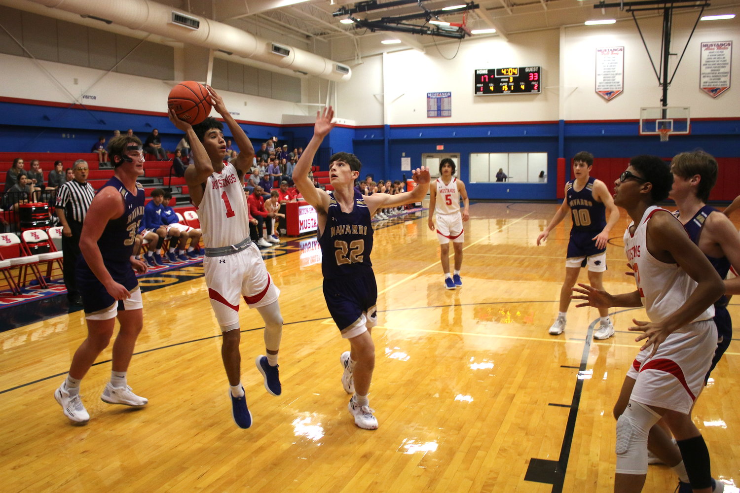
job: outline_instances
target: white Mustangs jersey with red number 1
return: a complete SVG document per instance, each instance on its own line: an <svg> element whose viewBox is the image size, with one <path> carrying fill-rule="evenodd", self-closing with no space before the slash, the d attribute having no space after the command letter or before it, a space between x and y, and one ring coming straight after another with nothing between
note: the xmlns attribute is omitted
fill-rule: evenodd
<svg viewBox="0 0 740 493"><path fill-rule="evenodd" d="M198 217L206 248L236 245L249 237L246 197L233 164L224 163L221 173L214 171L206 180Z"/></svg>

